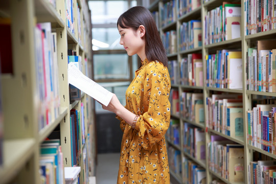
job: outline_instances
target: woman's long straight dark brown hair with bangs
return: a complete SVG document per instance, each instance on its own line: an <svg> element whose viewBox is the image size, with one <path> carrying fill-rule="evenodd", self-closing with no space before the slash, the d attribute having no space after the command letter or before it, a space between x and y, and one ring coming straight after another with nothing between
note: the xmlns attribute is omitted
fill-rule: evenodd
<svg viewBox="0 0 276 184"><path fill-rule="evenodd" d="M168 66L168 58L166 50L158 33L155 21L150 11L142 6L135 6L124 12L117 21L121 28L132 28L137 30L143 25L146 29L145 39L146 57L149 61L162 62L164 66Z"/></svg>

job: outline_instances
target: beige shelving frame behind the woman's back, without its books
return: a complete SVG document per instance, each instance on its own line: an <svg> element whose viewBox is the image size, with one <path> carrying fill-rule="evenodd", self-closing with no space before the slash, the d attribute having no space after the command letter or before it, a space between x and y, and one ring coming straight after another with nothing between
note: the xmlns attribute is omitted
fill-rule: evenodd
<svg viewBox="0 0 276 184"><path fill-rule="evenodd" d="M194 1L194 0L193 0ZM192 2L193 2L192 1ZM163 7L166 3L168 3L170 1L159 1L159 3L157 3L156 1L154 2L154 4L150 5L149 10L152 11L152 7L156 7L156 5L158 4L159 6L159 19L161 20L162 15L161 12L163 11ZM200 1L201 5L200 7L195 8L194 10L188 11L186 14L182 14L181 16L178 16L178 10L177 7L179 6L178 3L179 1L174 1L175 3L175 7L176 7L176 12L174 12L176 14L176 21L172 21L170 22L170 24L165 25L165 26L161 26L161 24L159 24L159 28L158 30L160 30L160 35L163 35L164 32L167 31L171 31L171 30L176 30L177 32L177 39L179 38L179 27L182 24L182 22L188 22L190 20L193 19L200 19L201 20L201 28L202 28L202 46L198 47L198 48L193 48L190 50L185 50L185 51L179 51L179 48L177 49L177 53L175 54L168 54L168 58L169 60L172 59L176 59L178 60L178 63L181 62L181 59L185 56L187 56L188 54L192 54L192 53L202 53L202 61L203 61L203 87L196 87L196 86L187 86L187 85L181 85L181 84L173 84L172 87L174 89L178 89L179 92L179 99L180 99L180 94L182 91L196 91L198 93L198 91L202 91L201 93L203 93L203 99L204 102L203 104L206 104L206 97L210 97L211 94L216 94L216 93L229 93L229 94L238 94L238 95L242 95L242 102L243 102L243 136L242 137L230 137L228 135L225 135L223 133L220 133L216 130L210 129L208 128L208 125L206 124L195 124L192 121L188 121L186 120L184 117L182 117L182 113L180 112L180 116L176 116L175 114L171 114L171 117L173 119L179 119L180 121L180 148L175 145L173 145L173 143L171 142L167 142L168 145L174 147L176 150L181 151L181 157L185 156L188 157L192 160L194 160L195 162L198 163L199 166L202 166L205 168L206 170L206 183L211 183L213 179L220 179L222 181L224 181L225 183L232 183L229 182L227 179L221 177L219 174L217 174L216 172L212 171L211 169L209 169L209 165L208 165L208 160L203 160L203 161L198 161L195 158L193 158L191 155L187 154L184 150L183 150L183 123L189 123L191 125L200 127L202 129L204 129L205 131L205 150L208 150L208 143L211 141L210 136L211 134L215 134L215 135L220 135L222 137L224 137L227 140L233 141L237 144L243 145L244 146L244 163L242 163L244 165L244 182L243 183L248 183L248 165L251 161L253 161L253 155L252 152L253 151L257 151L259 153L262 153L263 155L266 155L270 158L275 159L276 156L274 154L271 154L267 151L264 151L260 148L251 146L248 144L247 142L247 134L248 134L248 127L247 127L247 114L246 111L252 109L251 107L251 103L253 101L252 96L254 95L260 95L266 98L269 97L276 97L275 93L268 93L268 92L261 92L261 91L252 91L252 90L247 90L246 89L246 57L247 57L247 49L250 48L250 42L254 42L256 40L263 40L263 39L275 39L276 37L276 30L272 29L269 31L265 31L265 32L259 32L259 33L255 33L255 34L250 34L250 35L245 35L245 1L241 1L241 37L239 38L235 38L235 39L230 39L230 40L225 40L225 41L220 41L220 42L216 42L216 43L212 43L212 44L205 44L205 40L204 40L204 35L205 35L205 31L204 30L204 18L205 15L208 13L208 11L213 10L214 8L219 7L220 5L222 5L223 2L237 2L237 1L221 1L221 0L211 0L211 1ZM238 1L239 2L239 1ZM155 8L156 9L156 8ZM159 21L160 22L160 21ZM179 43L177 43L177 47L179 47ZM236 49L236 50L240 50L242 52L242 88L241 89L227 89L227 88L216 88L216 87L206 87L206 80L205 80L205 76L206 76L206 62L204 62L205 60L205 56L209 55L209 53L215 53L217 50L222 50L222 49ZM275 46L276 49L276 46ZM179 102L180 104L180 102ZM179 106L179 109L181 108L181 106ZM205 120L206 117L208 116L208 114L206 114L206 105L204 105L204 111L205 111ZM208 155L206 153L205 155L206 159L208 158ZM182 166L182 171L185 168ZM175 176L175 173L171 173L172 177L175 177L175 179L179 182L179 183L184 183L182 178L179 178L179 176Z"/></svg>

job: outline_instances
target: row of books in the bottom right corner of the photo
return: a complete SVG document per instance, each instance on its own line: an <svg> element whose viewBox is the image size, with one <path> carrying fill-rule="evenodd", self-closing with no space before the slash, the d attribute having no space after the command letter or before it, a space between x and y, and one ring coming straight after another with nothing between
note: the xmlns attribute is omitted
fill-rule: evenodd
<svg viewBox="0 0 276 184"><path fill-rule="evenodd" d="M273 184L276 182L276 160L251 161L248 165L248 183Z"/></svg>

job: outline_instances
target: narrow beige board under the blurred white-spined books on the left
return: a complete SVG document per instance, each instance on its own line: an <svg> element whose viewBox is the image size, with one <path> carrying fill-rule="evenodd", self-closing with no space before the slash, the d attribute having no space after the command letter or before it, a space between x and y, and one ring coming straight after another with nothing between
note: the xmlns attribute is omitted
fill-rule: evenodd
<svg viewBox="0 0 276 184"><path fill-rule="evenodd" d="M67 114L67 107L60 108L60 114L57 119L53 120L51 124L45 126L42 130L39 131L39 143L42 143L45 138L56 128L56 126L62 121L62 119Z"/></svg>

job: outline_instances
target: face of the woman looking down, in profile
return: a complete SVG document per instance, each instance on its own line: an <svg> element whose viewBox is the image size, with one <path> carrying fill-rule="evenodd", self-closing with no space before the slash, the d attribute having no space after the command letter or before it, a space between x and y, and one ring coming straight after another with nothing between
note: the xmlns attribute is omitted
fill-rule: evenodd
<svg viewBox="0 0 276 184"><path fill-rule="evenodd" d="M129 56L137 54L141 58L141 56L145 55L145 41L141 36L140 29L121 28L118 25L118 30L121 35L120 44L124 46Z"/></svg>

